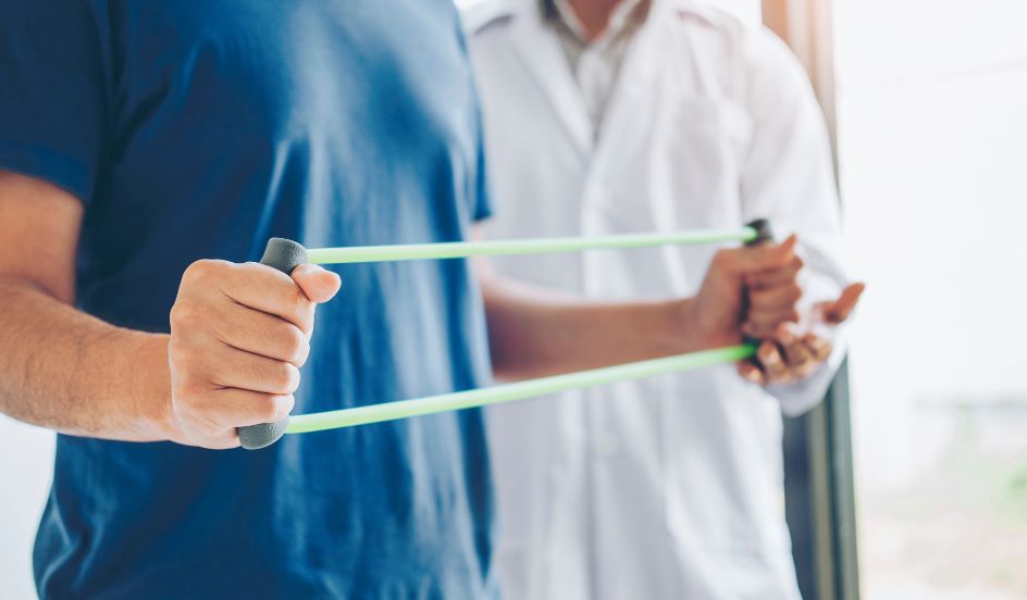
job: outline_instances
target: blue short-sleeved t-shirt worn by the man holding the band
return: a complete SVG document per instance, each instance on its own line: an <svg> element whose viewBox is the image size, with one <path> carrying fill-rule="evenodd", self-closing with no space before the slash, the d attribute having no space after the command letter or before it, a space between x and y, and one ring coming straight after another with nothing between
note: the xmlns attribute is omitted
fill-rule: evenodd
<svg viewBox="0 0 1027 600"><path fill-rule="evenodd" d="M485 216L451 0L0 0L0 168L86 207L77 303L168 332L186 266L458 240ZM463 261L338 268L295 413L487 384ZM261 451L59 436L44 598L480 598L479 411Z"/></svg>

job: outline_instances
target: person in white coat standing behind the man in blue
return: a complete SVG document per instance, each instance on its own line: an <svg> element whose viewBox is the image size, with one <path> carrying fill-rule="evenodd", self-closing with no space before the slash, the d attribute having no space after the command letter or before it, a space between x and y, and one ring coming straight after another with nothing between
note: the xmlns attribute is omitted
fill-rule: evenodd
<svg viewBox="0 0 1027 600"><path fill-rule="evenodd" d="M771 339L738 370L490 409L505 596L797 598L781 414L822 398L843 354L836 326L863 290L839 259L828 136L803 70L766 29L688 0L486 0L465 23L496 207L488 237L766 217L797 235L805 259L803 310L750 324ZM685 297L716 250L488 268L591 299ZM765 301L769 283L750 284L750 302Z"/></svg>

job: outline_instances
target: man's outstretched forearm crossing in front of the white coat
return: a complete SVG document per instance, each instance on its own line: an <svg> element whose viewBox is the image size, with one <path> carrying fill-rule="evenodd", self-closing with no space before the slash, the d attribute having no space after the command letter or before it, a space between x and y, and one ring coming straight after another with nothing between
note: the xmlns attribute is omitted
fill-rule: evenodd
<svg viewBox="0 0 1027 600"><path fill-rule="evenodd" d="M688 324L688 300L594 302L486 276L493 368L519 379L598 368L709 347Z"/></svg>

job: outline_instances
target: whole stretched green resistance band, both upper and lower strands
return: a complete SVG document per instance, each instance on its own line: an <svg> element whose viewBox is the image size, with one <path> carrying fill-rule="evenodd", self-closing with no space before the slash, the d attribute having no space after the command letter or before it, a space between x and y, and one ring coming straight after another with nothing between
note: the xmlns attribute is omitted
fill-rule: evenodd
<svg viewBox="0 0 1027 600"><path fill-rule="evenodd" d="M260 262L273 266L285 274L292 274L294 268L305 263L341 264L429 259L466 259L470 257L544 254L582 250L712 243L718 241L743 241L747 245L753 245L770 238L770 227L766 220L757 220L744 227L734 229L702 229L503 241L356 246L348 248L312 248L309 250L292 240L272 238L268 241L268 247L264 249L264 254ZM601 386L640 377L689 371L713 364L735 362L748 358L753 352L754 347L752 345L743 345L456 393L445 393L413 400L400 400L383 404L371 404L324 413L295 415L277 423L263 423L260 425L239 427L239 442L243 448L256 450L271 446L286 433L300 434L338 427L351 427L355 425L407 418L442 411L484 407L570 389Z"/></svg>

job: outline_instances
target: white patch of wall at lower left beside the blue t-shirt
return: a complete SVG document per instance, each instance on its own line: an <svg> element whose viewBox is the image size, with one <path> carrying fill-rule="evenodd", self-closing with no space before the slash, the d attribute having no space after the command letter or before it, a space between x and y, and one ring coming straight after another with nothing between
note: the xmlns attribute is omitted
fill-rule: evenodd
<svg viewBox="0 0 1027 600"><path fill-rule="evenodd" d="M0 596L36 597L32 545L53 475L54 435L0 416Z"/></svg>

